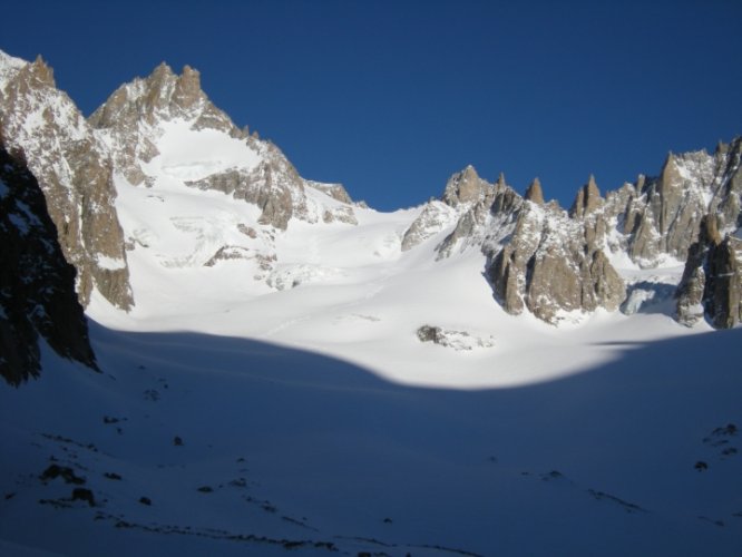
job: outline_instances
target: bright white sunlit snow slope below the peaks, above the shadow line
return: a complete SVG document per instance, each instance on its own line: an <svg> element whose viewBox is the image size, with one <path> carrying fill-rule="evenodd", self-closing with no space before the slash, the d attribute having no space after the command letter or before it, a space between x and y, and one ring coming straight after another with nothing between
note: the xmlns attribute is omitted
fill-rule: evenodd
<svg viewBox="0 0 742 557"><path fill-rule="evenodd" d="M159 159L167 159L168 150L160 150L153 167L167 166ZM199 168L217 164L199 153ZM223 150L214 153L224 157ZM598 344L606 335L635 342L693 332L663 313L668 307L646 303L645 313L631 320L576 314L559 330L530 314L508 315L482 277L481 253L436 261L436 246L455 223L414 250L402 250L404 231L421 208L382 214L354 207L357 225L292 219L286 231L276 231L258 224L254 205L187 187L167 170L157 176L147 188L117 180L137 305L124 314L98 296L88 309L117 329L266 340L340 356L392 381L458 388L573 373L611 358ZM312 195L323 198L318 203L334 202ZM632 282L643 276L642 284L676 283L682 273L650 274L624 263L625 276ZM475 348L421 343L416 332L423 325L468 333ZM488 346L476 346L477 339ZM548 355L531 346L548 349Z"/></svg>

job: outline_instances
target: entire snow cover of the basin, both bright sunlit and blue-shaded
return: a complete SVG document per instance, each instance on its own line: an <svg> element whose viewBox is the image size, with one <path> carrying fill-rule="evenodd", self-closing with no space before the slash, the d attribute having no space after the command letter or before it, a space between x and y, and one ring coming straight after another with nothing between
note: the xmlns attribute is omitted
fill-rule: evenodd
<svg viewBox="0 0 742 557"><path fill-rule="evenodd" d="M0 385L0 554L739 555L739 329L508 315L478 251L436 261L450 226L401 251L421 207L275 231L184 185L244 145L188 165L172 129L153 187L116 178L136 306L94 293L102 372L45 346Z"/></svg>

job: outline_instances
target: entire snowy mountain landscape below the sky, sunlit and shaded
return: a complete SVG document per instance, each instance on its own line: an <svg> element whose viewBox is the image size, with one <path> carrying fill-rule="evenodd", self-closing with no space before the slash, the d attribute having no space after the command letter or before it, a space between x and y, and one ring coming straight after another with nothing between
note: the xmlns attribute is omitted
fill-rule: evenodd
<svg viewBox="0 0 742 557"><path fill-rule="evenodd" d="M192 68L86 119L0 52L0 139L48 206L0 186L0 233L53 222L32 236L77 270L95 351L81 306L48 302L69 267L3 252L0 332L22 305L41 340L40 378L0 385L0 554L742 546L742 344L711 333L742 316L739 138L605 195L590 177L568 211L467 167L379 213Z"/></svg>

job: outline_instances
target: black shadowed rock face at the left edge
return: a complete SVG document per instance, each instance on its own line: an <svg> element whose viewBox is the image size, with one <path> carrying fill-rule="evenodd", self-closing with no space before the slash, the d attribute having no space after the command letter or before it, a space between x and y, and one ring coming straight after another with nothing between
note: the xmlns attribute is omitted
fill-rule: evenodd
<svg viewBox="0 0 742 557"><path fill-rule="evenodd" d="M0 141L0 374L17 385L40 371L39 335L59 355L97 369L38 182Z"/></svg>

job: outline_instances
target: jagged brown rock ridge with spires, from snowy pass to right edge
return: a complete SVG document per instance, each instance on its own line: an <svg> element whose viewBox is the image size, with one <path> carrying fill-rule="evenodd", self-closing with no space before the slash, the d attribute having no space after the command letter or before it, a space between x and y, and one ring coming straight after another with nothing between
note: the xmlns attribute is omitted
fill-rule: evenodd
<svg viewBox="0 0 742 557"><path fill-rule="evenodd" d="M671 154L658 177L640 176L605 197L590 176L568 212L546 203L538 178L520 196L502 176L489 184L469 166L451 176L440 199L426 204L404 232L402 250L449 229L436 245L438 258L481 250L502 307L528 310L549 323L569 312L621 306L627 285L611 263L615 256L625 254L641 268L687 260L678 320L692 324L706 314L714 326L733 326L741 154L739 138L713 155ZM701 233L712 217L721 234L715 241Z"/></svg>

